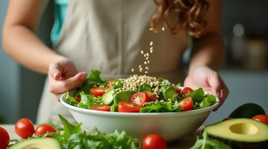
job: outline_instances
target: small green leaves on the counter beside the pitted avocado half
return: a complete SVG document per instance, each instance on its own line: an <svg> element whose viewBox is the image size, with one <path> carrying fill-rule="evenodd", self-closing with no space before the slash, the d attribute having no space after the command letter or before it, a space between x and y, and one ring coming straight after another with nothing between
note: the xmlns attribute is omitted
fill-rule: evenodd
<svg viewBox="0 0 268 149"><path fill-rule="evenodd" d="M203 132L203 139L199 139L197 136L197 140L190 149L232 149L229 145L226 145L216 139L209 139L207 132Z"/></svg>

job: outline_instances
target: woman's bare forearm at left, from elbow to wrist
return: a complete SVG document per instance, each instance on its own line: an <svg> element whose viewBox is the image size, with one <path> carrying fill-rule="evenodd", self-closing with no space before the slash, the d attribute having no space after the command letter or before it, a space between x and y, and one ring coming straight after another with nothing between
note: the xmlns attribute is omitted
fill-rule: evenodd
<svg viewBox="0 0 268 149"><path fill-rule="evenodd" d="M32 30L22 25L4 26L2 34L4 51L21 65L46 74L49 64L64 57L44 45Z"/></svg>

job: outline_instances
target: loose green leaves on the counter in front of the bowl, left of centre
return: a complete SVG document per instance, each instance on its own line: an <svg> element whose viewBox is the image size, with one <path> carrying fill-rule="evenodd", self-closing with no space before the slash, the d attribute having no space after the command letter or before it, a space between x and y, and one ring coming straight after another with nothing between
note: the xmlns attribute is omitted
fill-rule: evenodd
<svg viewBox="0 0 268 149"><path fill-rule="evenodd" d="M86 132L81 128L82 123L72 125L61 115L59 117L64 126L63 133L60 133L60 131L57 133L47 132L46 134L29 137L28 139L52 136L58 140L62 149L141 149L141 145L135 146L137 139L127 136L125 131L119 132L116 130L112 134L105 134L95 128L90 132ZM10 142L14 143L21 141L24 140L10 140Z"/></svg>

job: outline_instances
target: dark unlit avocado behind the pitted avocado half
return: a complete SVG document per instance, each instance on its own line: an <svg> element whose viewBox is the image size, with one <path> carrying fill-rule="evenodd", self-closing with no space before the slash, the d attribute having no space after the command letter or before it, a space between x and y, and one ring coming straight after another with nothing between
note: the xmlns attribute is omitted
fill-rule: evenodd
<svg viewBox="0 0 268 149"><path fill-rule="evenodd" d="M251 119L256 115L266 115L264 109L255 103L246 103L236 108L229 117L236 118L248 118Z"/></svg>

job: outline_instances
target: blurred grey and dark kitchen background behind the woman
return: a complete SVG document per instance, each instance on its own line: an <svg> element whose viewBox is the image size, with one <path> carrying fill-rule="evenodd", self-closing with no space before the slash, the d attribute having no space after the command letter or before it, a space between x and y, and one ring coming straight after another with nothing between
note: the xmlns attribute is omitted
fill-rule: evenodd
<svg viewBox="0 0 268 149"><path fill-rule="evenodd" d="M0 30L8 0L0 1ZM38 36L51 46L53 0L40 22ZM239 105L257 103L268 113L268 1L223 0L222 29L227 58L220 75L230 90L225 104L205 124L221 121ZM1 31L0 31L1 32ZM1 37L0 37L1 40ZM189 50L184 62L188 63ZM45 75L20 66L0 45L0 123L27 117L35 123Z"/></svg>

